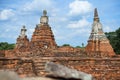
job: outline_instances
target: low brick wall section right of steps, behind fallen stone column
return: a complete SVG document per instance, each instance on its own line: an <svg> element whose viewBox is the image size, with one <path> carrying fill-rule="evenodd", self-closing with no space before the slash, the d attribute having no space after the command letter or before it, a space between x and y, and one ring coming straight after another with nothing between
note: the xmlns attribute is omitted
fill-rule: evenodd
<svg viewBox="0 0 120 80"><path fill-rule="evenodd" d="M89 74L95 80L119 80L120 58L56 58L56 63L66 65Z"/></svg>

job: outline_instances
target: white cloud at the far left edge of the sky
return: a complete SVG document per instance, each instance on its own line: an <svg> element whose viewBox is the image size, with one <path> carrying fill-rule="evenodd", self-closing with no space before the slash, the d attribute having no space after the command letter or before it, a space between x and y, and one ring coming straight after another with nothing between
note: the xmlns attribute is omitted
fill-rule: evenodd
<svg viewBox="0 0 120 80"><path fill-rule="evenodd" d="M12 9L4 9L0 12L0 20L7 20L15 15Z"/></svg>

